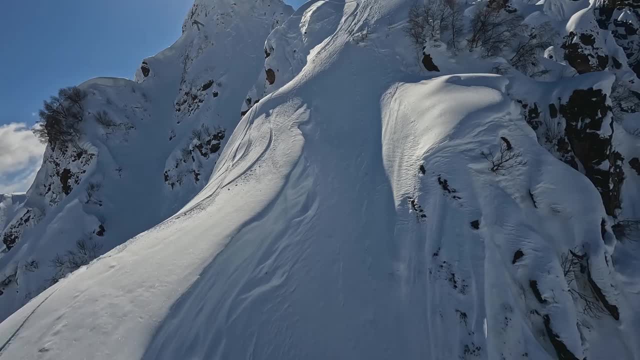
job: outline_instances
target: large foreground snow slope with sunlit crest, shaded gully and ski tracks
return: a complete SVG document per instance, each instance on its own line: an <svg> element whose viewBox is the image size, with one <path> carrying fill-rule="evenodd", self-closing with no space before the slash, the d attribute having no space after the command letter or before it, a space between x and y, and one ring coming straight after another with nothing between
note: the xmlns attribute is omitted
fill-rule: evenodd
<svg viewBox="0 0 640 360"><path fill-rule="evenodd" d="M617 74L476 74L495 59L442 46L424 72L411 5L298 9L202 191L4 320L0 359L638 359L637 245L612 231L635 178L607 213L604 165L545 143L529 111L561 99L573 129L572 95ZM491 172L483 152L507 146L519 165Z"/></svg>

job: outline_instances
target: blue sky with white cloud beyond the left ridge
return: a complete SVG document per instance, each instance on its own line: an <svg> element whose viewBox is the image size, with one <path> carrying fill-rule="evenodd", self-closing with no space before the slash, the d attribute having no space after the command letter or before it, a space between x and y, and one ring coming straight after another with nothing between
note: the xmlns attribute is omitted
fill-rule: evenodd
<svg viewBox="0 0 640 360"><path fill-rule="evenodd" d="M297 7L305 0L285 2ZM143 58L177 40L191 4L193 0L4 1L0 193L24 191L33 179L44 148L24 133L37 120L44 99L96 76L132 78Z"/></svg>

